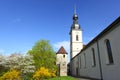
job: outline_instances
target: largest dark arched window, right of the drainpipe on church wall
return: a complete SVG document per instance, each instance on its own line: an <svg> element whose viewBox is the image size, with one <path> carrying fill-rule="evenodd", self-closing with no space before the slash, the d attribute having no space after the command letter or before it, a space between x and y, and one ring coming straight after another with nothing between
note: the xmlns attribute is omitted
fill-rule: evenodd
<svg viewBox="0 0 120 80"><path fill-rule="evenodd" d="M112 64L112 63L114 63L114 61L113 61L112 49L111 49L110 41L108 39L106 40L106 48L107 48L109 64Z"/></svg>

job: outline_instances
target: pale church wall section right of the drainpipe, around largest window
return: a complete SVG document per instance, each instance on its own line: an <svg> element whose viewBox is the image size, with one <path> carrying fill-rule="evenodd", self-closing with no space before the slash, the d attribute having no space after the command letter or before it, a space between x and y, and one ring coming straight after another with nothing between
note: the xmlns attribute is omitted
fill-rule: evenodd
<svg viewBox="0 0 120 80"><path fill-rule="evenodd" d="M120 79L120 23L116 26L118 27L109 31L99 40L103 80ZM105 44L106 39L110 41L114 61L113 64L109 64Z"/></svg>

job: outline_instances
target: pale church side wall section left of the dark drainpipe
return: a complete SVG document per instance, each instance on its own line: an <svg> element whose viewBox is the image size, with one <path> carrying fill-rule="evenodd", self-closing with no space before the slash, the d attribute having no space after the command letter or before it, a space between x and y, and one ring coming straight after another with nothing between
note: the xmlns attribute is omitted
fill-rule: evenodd
<svg viewBox="0 0 120 80"><path fill-rule="evenodd" d="M95 49L95 66L92 64L92 48ZM84 76L100 79L99 58L97 50L97 44L94 43L72 59L73 76ZM78 72L76 71L77 68Z"/></svg>

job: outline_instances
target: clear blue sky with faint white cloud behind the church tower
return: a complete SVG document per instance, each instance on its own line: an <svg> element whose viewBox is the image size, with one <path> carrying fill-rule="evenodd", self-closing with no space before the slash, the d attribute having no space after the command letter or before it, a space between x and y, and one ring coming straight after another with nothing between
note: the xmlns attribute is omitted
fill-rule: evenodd
<svg viewBox="0 0 120 80"><path fill-rule="evenodd" d="M69 53L74 4L87 44L120 16L120 0L0 0L0 54L26 53L36 41L49 40Z"/></svg>

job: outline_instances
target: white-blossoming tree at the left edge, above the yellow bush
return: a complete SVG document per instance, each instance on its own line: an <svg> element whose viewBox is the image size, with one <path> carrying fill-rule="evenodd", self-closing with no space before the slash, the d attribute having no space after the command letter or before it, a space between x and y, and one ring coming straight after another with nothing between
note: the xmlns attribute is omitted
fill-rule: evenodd
<svg viewBox="0 0 120 80"><path fill-rule="evenodd" d="M35 72L33 57L28 54L22 56L19 53L14 53L6 58L0 57L0 65L5 69L19 70L22 74Z"/></svg>

